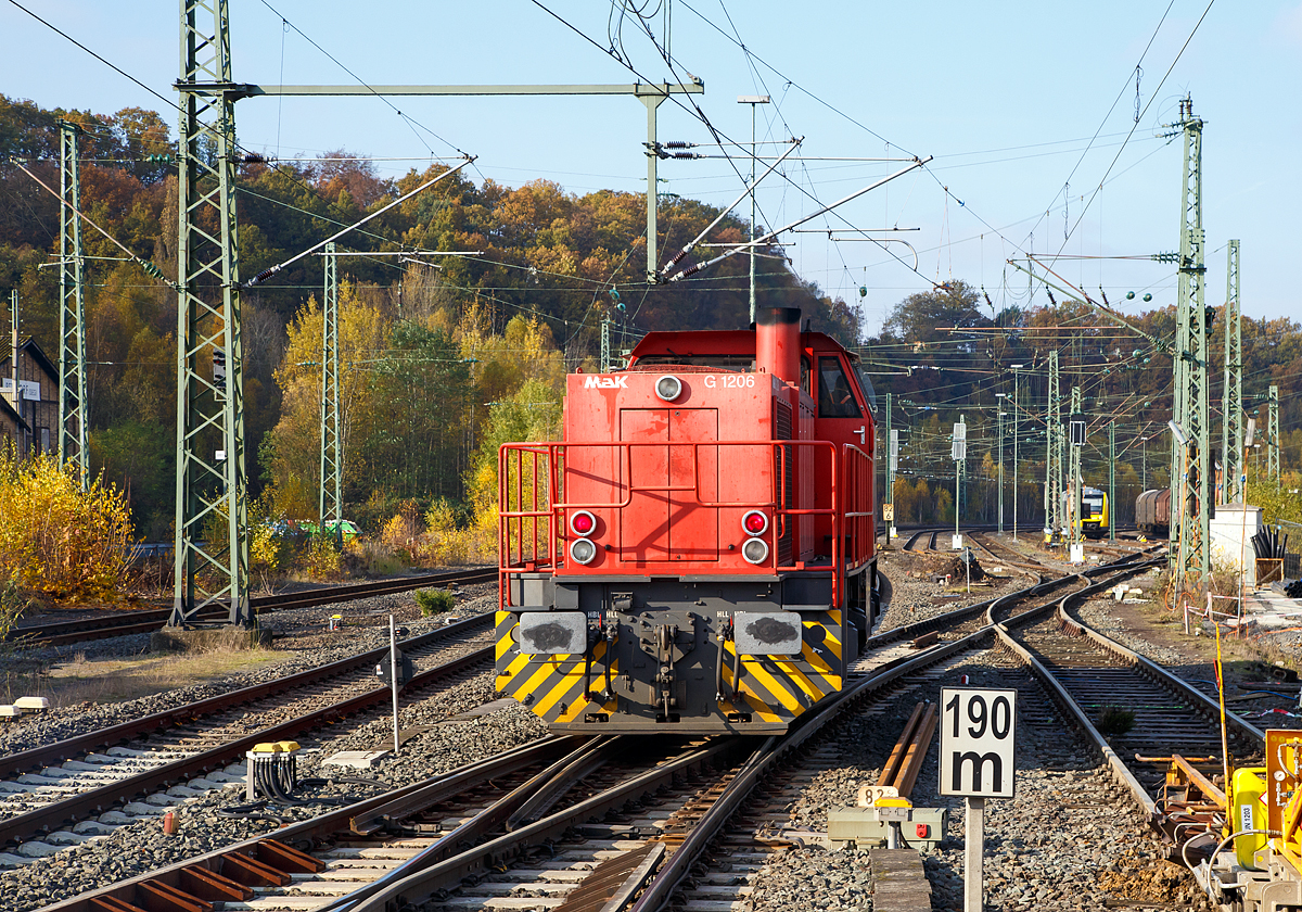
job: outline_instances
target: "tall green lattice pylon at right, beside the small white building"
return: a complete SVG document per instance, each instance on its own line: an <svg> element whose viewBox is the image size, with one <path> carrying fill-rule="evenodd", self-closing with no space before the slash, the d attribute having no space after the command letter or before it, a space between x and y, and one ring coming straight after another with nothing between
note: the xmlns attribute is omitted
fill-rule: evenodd
<svg viewBox="0 0 1302 912"><path fill-rule="evenodd" d="M1180 300L1176 306L1176 423L1185 435L1172 435L1170 535L1174 582L1184 589L1211 569L1211 423L1207 391L1208 314L1203 304L1207 268L1203 263L1203 121L1194 116L1189 96L1180 102L1176 128L1185 134L1184 193L1180 225Z"/></svg>

